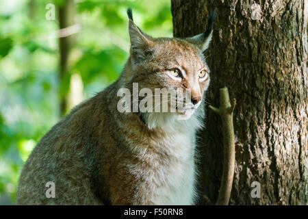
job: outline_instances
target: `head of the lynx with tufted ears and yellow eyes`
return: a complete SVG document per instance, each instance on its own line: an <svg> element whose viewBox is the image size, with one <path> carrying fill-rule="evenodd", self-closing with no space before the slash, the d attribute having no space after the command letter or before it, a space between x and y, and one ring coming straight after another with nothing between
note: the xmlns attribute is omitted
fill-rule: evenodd
<svg viewBox="0 0 308 219"><path fill-rule="evenodd" d="M175 108L173 113L155 111L140 116L150 128L172 120L188 120L204 102L203 94L209 86L209 67L203 52L211 41L215 11L208 18L206 31L190 38L153 38L136 26L130 9L127 14L131 41L129 83L138 82L139 90L151 89L153 96L157 96L155 88L182 91L167 101L169 110L172 105Z"/></svg>

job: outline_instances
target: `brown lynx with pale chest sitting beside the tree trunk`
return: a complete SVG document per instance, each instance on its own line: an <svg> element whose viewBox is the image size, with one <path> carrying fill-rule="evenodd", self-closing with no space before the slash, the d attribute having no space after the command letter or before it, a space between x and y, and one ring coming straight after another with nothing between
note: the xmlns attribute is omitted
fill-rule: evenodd
<svg viewBox="0 0 308 219"><path fill-rule="evenodd" d="M153 38L136 26L131 10L127 14L131 49L123 73L38 142L21 172L16 204L196 203L196 131L203 127L209 86L203 51L215 12L206 31L190 38ZM175 112L118 112L118 90L132 90L133 83L153 91L189 89L191 98L183 92L173 99ZM50 182L53 196L47 196Z"/></svg>

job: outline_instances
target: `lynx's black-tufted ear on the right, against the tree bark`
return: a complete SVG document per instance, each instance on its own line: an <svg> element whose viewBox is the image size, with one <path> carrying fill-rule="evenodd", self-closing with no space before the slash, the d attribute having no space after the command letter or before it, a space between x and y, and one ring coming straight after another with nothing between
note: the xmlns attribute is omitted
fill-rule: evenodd
<svg viewBox="0 0 308 219"><path fill-rule="evenodd" d="M186 38L189 42L196 44L202 51L209 48L209 42L211 42L211 36L213 34L213 23L216 15L216 10L212 12L207 18L207 29L204 33L198 34L191 38Z"/></svg>

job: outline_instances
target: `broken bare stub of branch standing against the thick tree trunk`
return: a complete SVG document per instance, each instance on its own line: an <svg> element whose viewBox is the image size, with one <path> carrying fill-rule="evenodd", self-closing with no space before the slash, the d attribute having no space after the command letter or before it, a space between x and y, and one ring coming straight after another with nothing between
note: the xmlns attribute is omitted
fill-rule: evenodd
<svg viewBox="0 0 308 219"><path fill-rule="evenodd" d="M235 146L233 129L233 111L236 101L230 103L228 88L220 88L220 107L216 108L209 105L209 108L220 115L222 118L222 135L224 142L224 166L220 183L220 192L216 205L228 205L235 166Z"/></svg>

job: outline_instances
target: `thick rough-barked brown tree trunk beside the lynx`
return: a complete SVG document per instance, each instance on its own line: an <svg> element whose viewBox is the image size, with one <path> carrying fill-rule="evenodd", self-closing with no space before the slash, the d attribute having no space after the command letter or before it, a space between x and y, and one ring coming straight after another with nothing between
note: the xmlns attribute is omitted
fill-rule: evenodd
<svg viewBox="0 0 308 219"><path fill-rule="evenodd" d="M203 32L214 8L213 40L206 52L211 70L207 102L218 106L224 86L237 100L230 204L307 205L307 0L172 0L174 36ZM199 189L215 203L222 125L206 110ZM260 198L251 196L254 181L261 185Z"/></svg>

